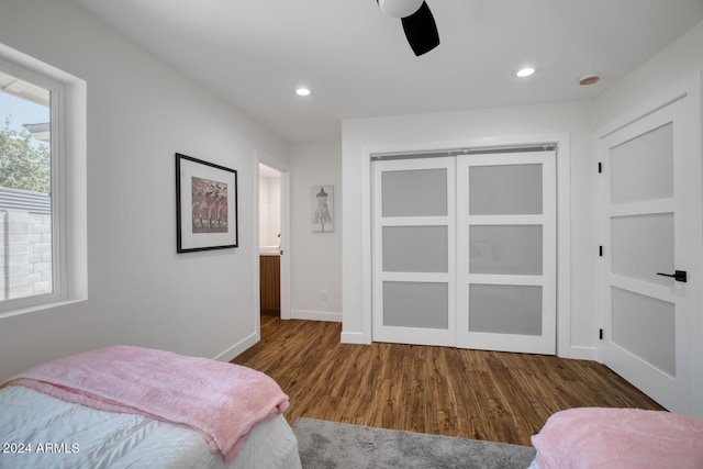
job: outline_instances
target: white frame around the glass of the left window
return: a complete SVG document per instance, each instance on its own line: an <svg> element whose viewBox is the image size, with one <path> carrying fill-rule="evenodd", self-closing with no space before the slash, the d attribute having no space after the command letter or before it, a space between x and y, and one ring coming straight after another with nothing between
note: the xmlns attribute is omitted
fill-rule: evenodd
<svg viewBox="0 0 703 469"><path fill-rule="evenodd" d="M0 69L49 91L52 159L52 291L0 300L3 319L87 299L87 87L1 43Z"/></svg>

